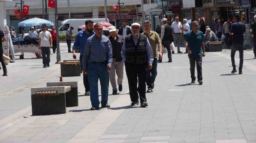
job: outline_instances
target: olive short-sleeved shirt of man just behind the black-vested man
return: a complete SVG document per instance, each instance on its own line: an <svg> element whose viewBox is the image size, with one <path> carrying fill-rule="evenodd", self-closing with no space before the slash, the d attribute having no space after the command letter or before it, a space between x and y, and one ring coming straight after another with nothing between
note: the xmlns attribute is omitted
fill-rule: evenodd
<svg viewBox="0 0 256 143"><path fill-rule="evenodd" d="M152 31L150 33L150 35L146 34L145 32L143 32L142 34L144 34L144 35L146 35L148 37L148 41L149 41L149 43L150 43L150 45L152 47L152 50L153 50L153 56L154 56L154 58L158 58L157 50L156 50L156 45L158 43L162 43L159 35L156 32L154 32L154 31Z"/></svg>

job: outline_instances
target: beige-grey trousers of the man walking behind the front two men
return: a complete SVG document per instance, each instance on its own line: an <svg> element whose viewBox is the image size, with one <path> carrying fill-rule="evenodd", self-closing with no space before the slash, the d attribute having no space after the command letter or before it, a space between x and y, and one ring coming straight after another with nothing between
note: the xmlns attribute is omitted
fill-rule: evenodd
<svg viewBox="0 0 256 143"><path fill-rule="evenodd" d="M116 84L116 73L117 73L117 84ZM117 85L122 84L124 79L124 62L116 62L113 59L110 69L109 80L113 90L117 90Z"/></svg>

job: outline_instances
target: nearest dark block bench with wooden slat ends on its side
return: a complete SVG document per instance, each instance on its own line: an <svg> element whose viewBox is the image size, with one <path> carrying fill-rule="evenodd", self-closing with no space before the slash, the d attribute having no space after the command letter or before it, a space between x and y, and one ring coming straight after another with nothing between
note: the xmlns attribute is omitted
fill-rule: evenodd
<svg viewBox="0 0 256 143"><path fill-rule="evenodd" d="M32 115L65 114L65 94L71 86L31 88Z"/></svg>

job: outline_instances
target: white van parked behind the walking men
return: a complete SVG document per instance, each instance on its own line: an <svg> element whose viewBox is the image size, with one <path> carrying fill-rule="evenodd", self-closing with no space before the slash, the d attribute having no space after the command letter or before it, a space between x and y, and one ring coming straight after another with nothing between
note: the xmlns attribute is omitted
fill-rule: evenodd
<svg viewBox="0 0 256 143"><path fill-rule="evenodd" d="M80 25L84 25L86 20L92 20L94 23L106 21L106 19L104 19L104 18L100 18L100 19L67 19L60 24L59 34L66 34L66 31L68 28L70 28L70 26L72 26L74 28L74 30L72 30L72 33L77 34L78 27ZM108 19L107 19L107 22L109 22Z"/></svg>

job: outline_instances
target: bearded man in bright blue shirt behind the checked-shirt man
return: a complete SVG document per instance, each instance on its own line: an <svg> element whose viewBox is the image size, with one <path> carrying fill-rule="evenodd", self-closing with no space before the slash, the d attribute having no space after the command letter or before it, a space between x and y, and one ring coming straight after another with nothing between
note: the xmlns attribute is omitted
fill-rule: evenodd
<svg viewBox="0 0 256 143"><path fill-rule="evenodd" d="M76 59L75 50L79 50L79 53L80 53L79 59L80 59L80 65L82 69L83 69L82 59L85 51L86 41L89 37L95 34L93 31L93 23L94 22L92 20L86 20L85 21L86 28L84 30L79 31L75 37L75 43L73 47L73 58ZM90 86L89 86L87 74L83 74L83 83L85 88L84 95L89 96Z"/></svg>

